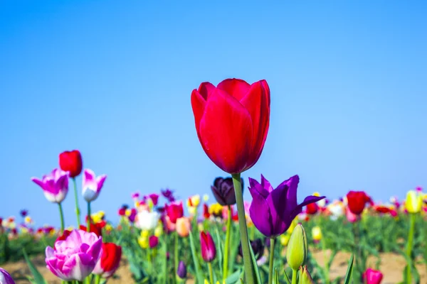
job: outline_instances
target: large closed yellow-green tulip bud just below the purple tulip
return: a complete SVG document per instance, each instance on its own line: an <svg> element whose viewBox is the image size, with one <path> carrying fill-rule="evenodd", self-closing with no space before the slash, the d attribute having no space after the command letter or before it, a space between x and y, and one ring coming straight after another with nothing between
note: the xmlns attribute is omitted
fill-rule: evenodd
<svg viewBox="0 0 427 284"><path fill-rule="evenodd" d="M297 271L305 263L305 258L307 258L307 236L301 223L297 224L292 235L290 235L286 258L290 268L294 271Z"/></svg>

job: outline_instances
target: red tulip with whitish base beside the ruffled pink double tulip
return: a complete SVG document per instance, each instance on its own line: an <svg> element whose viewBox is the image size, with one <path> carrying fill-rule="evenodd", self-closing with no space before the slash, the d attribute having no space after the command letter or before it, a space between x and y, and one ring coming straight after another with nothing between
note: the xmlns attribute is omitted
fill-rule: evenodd
<svg viewBox="0 0 427 284"><path fill-rule="evenodd" d="M119 268L122 258L122 247L112 243L102 244L102 255L93 269L94 274L101 275L102 278L112 276Z"/></svg>

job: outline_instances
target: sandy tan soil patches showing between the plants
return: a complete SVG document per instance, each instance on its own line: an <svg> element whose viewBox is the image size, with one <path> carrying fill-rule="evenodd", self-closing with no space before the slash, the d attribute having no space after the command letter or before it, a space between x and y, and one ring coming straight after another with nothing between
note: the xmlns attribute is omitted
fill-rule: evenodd
<svg viewBox="0 0 427 284"><path fill-rule="evenodd" d="M329 254L329 252L328 252ZM323 266L323 253L322 251L313 252L313 256L317 259L319 264ZM347 271L347 262L349 260L350 253L338 253L332 263L330 271L331 278L342 276ZM37 256L32 259L33 263L37 266L38 270L43 274L49 284L60 284L58 278L56 278L48 269L44 263L43 256ZM374 266L374 258L370 259L369 262ZM381 254L381 266L380 270L384 273L384 280L382 284L393 284L399 283L403 280L403 270L405 267L405 259L403 256L399 256L394 253L382 253ZM16 280L16 284L29 283L26 280L26 275L31 275L25 261L18 261L16 263L6 263L3 265L6 271L11 273L12 277ZM418 265L418 272L421 275L421 283L427 283L427 267L425 265ZM132 275L127 267L127 261L125 259L120 263L120 268L116 273L116 278L111 278L108 283L134 283ZM193 281L187 281L189 284L193 284Z"/></svg>

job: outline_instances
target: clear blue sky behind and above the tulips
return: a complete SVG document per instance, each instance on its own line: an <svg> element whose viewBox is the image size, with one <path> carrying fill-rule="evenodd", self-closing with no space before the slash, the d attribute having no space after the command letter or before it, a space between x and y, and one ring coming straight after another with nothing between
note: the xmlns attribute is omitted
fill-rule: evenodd
<svg viewBox="0 0 427 284"><path fill-rule="evenodd" d="M246 181L263 173L278 185L298 174L300 200L352 189L386 201L426 187L426 8L1 1L0 217L26 208L39 226L59 224L30 178L74 148L85 167L108 175L93 209L112 221L135 190L210 193L225 173L199 145L190 94L228 77L265 79L271 90L267 142Z"/></svg>

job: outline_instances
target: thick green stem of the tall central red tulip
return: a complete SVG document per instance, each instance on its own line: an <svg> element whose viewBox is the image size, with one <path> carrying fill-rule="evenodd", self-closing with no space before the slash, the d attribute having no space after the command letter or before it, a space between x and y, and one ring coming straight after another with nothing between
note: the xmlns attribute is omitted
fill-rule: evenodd
<svg viewBox="0 0 427 284"><path fill-rule="evenodd" d="M234 194L236 195L238 227L241 234L243 265L245 267L245 277L247 284L254 284L255 277L252 265L251 251L249 250L248 227L246 226L245 207L243 207L243 192L241 184L241 174L231 175L233 178Z"/></svg>

